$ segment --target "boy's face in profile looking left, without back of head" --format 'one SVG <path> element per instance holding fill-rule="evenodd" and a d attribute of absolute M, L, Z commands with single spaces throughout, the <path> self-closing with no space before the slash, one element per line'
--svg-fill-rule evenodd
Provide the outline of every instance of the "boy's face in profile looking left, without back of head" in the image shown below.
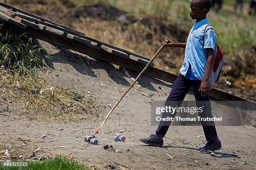
<path fill-rule="evenodd" d="M 202 7 L 200 7 L 200 4 L 196 1 L 196 0 L 192 0 L 190 3 L 190 17 L 193 20 L 199 20 L 202 18 L 205 18 L 206 14 L 207 14 L 207 10 L 206 9 L 202 9 Z"/>

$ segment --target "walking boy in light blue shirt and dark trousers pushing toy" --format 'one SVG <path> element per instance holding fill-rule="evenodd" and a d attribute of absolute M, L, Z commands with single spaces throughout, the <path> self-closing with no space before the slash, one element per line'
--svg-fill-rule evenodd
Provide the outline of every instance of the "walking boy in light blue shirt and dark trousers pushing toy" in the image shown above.
<path fill-rule="evenodd" d="M 205 34 L 206 27 L 210 25 L 206 15 L 211 6 L 210 0 L 192 0 L 189 13 L 190 17 L 196 22 L 189 32 L 187 43 L 173 42 L 168 38 L 166 38 L 168 43 L 166 41 L 162 42 L 167 47 L 185 48 L 184 62 L 179 70 L 180 74 L 174 82 L 166 103 L 176 101 L 175 106 L 179 107 L 190 87 L 193 87 L 197 107 L 202 104 L 199 101 L 204 101 L 204 111 L 198 112 L 200 117 L 212 117 L 210 98 L 207 93 L 209 75 L 214 62 L 214 52 L 217 50 L 215 49 L 216 35 L 212 29 L 207 30 Z M 172 115 L 164 112 L 162 118 L 175 117 L 175 115 L 176 113 Z M 167 133 L 170 124 L 171 121 L 160 121 L 156 134 L 139 140 L 148 145 L 163 146 L 163 137 Z M 217 136 L 214 122 L 209 125 L 209 123 L 201 121 L 201 124 L 208 142 L 200 149 L 219 150 L 221 143 Z"/>

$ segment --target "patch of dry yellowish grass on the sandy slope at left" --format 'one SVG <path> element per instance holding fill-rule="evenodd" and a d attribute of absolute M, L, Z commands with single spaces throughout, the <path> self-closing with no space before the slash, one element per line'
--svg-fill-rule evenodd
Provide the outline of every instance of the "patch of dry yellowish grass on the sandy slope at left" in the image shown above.
<path fill-rule="evenodd" d="M 31 119 L 51 117 L 58 121 L 77 121 L 81 115 L 90 117 L 100 108 L 93 100 L 69 92 L 68 89 L 50 85 L 37 76 L 6 75 L 1 71 L 1 102 L 18 100 L 23 108 L 20 114 Z M 54 87 L 53 96 L 49 90 L 51 87 Z"/>

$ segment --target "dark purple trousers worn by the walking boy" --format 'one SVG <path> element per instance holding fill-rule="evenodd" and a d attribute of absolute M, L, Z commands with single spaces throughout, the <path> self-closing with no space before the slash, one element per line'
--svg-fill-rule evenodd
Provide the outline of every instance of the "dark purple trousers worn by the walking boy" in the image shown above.
<path fill-rule="evenodd" d="M 174 82 L 174 85 L 172 87 L 171 93 L 166 99 L 166 102 L 168 101 L 177 101 L 175 105 L 180 107 L 182 104 L 182 101 L 184 100 L 184 97 L 187 95 L 187 92 L 191 87 L 193 87 L 194 90 L 194 95 L 195 95 L 195 100 L 196 101 L 204 101 L 204 111 L 203 112 L 198 112 L 200 117 L 212 117 L 212 107 L 210 103 L 210 98 L 207 95 L 201 96 L 201 91 L 199 91 L 201 81 L 200 80 L 189 80 L 183 75 L 179 75 L 177 79 Z M 196 102 L 197 107 L 200 107 L 201 102 Z M 162 117 L 175 117 L 177 112 L 175 112 L 173 115 L 170 113 L 164 112 Z M 171 121 L 160 121 L 158 128 L 156 129 L 156 133 L 160 133 L 163 137 L 167 133 L 167 130 L 171 124 Z M 207 141 L 212 140 L 217 136 L 217 131 L 214 125 L 214 122 L 211 123 L 211 125 L 207 124 L 204 125 L 205 123 L 201 121 L 202 128 L 205 133 L 205 138 Z"/>

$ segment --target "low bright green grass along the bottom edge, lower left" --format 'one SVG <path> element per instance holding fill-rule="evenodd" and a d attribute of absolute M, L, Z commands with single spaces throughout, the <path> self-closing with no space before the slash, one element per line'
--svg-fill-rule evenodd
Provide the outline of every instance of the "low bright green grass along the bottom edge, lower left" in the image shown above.
<path fill-rule="evenodd" d="M 26 167 L 8 167 L 0 170 L 97 170 L 97 168 L 88 167 L 67 158 L 56 157 L 44 162 L 28 162 Z"/>

